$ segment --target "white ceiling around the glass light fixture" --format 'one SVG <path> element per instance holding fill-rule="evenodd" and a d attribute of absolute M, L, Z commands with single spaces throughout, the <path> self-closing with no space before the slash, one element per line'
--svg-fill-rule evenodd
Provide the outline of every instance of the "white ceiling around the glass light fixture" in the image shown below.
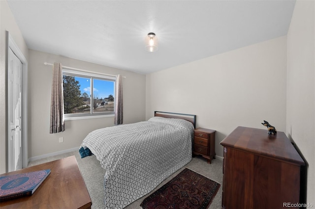
<path fill-rule="evenodd" d="M 30 49 L 142 74 L 286 35 L 295 5 L 295 0 L 7 1 Z M 149 32 L 158 37 L 157 52 L 144 49 Z"/>

